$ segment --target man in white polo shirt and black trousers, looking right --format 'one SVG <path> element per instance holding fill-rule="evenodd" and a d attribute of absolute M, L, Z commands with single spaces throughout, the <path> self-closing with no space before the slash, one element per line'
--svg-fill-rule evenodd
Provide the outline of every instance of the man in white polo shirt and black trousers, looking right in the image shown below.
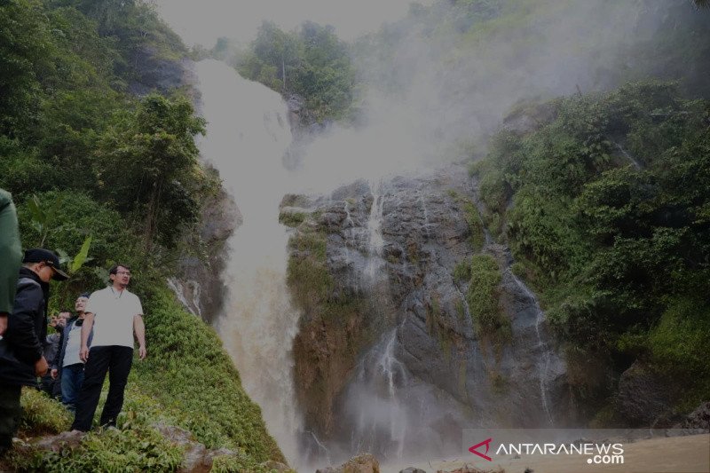
<path fill-rule="evenodd" d="M 126 287 L 130 269 L 116 264 L 109 270 L 111 285 L 91 294 L 84 308 L 82 348 L 79 357 L 86 362 L 82 390 L 76 403 L 73 430 L 91 429 L 101 387 L 108 373 L 108 396 L 101 413 L 102 426 L 115 427 L 116 417 L 123 406 L 130 365 L 133 362 L 133 334 L 138 338 L 138 355 L 146 358 L 146 326 L 143 307 L 138 296 Z M 93 328 L 91 351 L 87 346 Z"/>

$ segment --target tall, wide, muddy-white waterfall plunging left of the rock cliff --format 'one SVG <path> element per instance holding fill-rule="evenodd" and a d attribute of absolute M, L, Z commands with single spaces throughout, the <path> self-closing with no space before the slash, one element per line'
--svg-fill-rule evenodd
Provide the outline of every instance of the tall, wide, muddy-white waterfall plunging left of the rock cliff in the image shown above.
<path fill-rule="evenodd" d="M 288 184 L 283 158 L 291 144 L 280 95 L 242 79 L 224 63 L 198 63 L 207 137 L 202 156 L 233 195 L 243 224 L 227 242 L 229 293 L 217 332 L 241 374 L 244 389 L 262 408 L 264 421 L 291 464 L 298 464 L 291 347 L 298 313 L 286 284 L 286 228 L 279 203 Z M 225 257 L 227 257 L 225 255 Z"/>

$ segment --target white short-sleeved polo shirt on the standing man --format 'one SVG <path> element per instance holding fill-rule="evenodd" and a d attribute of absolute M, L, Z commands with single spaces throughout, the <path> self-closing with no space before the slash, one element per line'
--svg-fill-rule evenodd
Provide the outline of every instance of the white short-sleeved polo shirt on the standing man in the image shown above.
<path fill-rule="evenodd" d="M 133 348 L 133 318 L 143 315 L 138 296 L 128 289 L 101 289 L 89 297 L 85 312 L 94 314 L 91 346 L 119 345 Z"/>

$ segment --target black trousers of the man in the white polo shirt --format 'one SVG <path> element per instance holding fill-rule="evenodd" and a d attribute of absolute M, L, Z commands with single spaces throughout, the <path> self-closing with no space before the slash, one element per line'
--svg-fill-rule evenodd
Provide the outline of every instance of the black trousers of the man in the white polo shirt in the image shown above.
<path fill-rule="evenodd" d="M 116 417 L 123 406 L 123 390 L 126 389 L 130 366 L 133 363 L 133 349 L 110 345 L 91 347 L 89 359 L 83 372 L 82 390 L 76 402 L 73 430 L 91 430 L 96 407 L 99 406 L 101 387 L 108 373 L 108 396 L 101 413 L 100 425 L 115 426 Z"/>

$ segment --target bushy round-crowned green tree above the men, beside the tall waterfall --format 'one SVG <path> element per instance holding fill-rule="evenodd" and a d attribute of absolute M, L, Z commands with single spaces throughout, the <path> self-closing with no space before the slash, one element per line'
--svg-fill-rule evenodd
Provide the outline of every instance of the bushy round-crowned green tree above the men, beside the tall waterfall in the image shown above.
<path fill-rule="evenodd" d="M 104 192 L 117 209 L 142 222 L 146 250 L 154 242 L 172 247 L 184 225 L 198 217 L 189 192 L 201 179 L 197 133 L 204 133 L 204 120 L 193 116 L 187 99 L 152 94 L 101 139 Z"/>

